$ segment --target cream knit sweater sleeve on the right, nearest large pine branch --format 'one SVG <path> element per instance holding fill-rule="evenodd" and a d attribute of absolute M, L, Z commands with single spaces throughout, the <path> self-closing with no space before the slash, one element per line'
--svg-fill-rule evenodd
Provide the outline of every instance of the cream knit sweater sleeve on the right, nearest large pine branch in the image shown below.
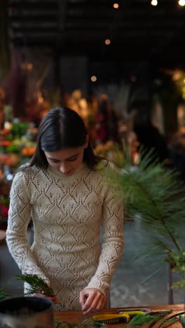
<path fill-rule="evenodd" d="M 111 278 L 123 252 L 123 198 L 113 189 L 107 190 L 103 205 L 102 252 L 95 275 L 88 288 L 100 289 L 107 294 Z"/>

